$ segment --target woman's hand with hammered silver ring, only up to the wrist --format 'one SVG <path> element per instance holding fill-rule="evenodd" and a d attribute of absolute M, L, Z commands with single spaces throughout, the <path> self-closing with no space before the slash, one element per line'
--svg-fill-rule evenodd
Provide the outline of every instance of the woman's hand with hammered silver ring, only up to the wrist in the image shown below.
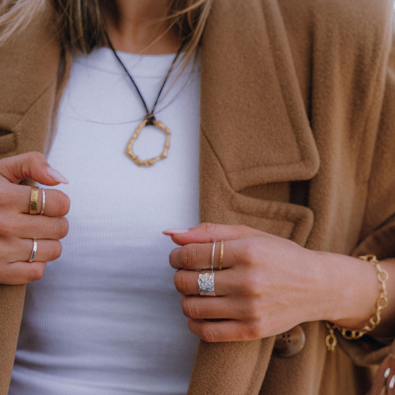
<path fill-rule="evenodd" d="M 330 276 L 319 254 L 296 243 L 243 225 L 200 224 L 184 233 L 167 229 L 181 245 L 170 264 L 182 293 L 190 330 L 207 342 L 253 340 L 283 333 L 301 322 L 328 319 L 333 304 Z M 215 271 L 216 297 L 200 296 L 199 271 L 214 269 L 224 240 L 223 269 Z M 349 258 L 349 257 L 348 257 Z M 355 259 L 355 258 L 351 258 Z M 206 319 L 225 319 L 207 321 Z"/>

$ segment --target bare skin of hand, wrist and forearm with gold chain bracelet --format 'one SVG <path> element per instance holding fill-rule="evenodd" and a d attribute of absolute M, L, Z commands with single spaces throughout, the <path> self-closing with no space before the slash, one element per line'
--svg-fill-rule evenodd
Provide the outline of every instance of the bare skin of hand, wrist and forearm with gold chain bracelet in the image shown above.
<path fill-rule="evenodd" d="M 169 260 L 177 269 L 174 283 L 182 294 L 182 311 L 190 318 L 190 330 L 207 342 L 260 339 L 316 320 L 361 329 L 376 311 L 381 290 L 377 271 L 358 258 L 308 250 L 243 225 L 200 224 L 185 233 L 164 233 L 181 245 Z M 221 239 L 223 269 L 216 271 L 214 282 L 218 296 L 202 297 L 196 269 L 209 269 L 212 243 Z M 217 267 L 219 254 L 217 245 Z M 390 279 L 395 276 L 393 263 L 381 262 Z M 371 332 L 375 336 L 393 333 L 394 282 L 387 288 L 389 307 Z"/>

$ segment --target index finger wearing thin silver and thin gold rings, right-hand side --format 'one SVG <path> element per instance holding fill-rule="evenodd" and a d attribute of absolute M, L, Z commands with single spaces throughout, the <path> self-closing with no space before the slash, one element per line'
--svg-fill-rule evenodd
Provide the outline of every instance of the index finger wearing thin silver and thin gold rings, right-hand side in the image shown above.
<path fill-rule="evenodd" d="M 214 269 L 219 267 L 221 243 L 216 243 L 213 258 Z M 242 248 L 243 243 L 238 240 L 229 240 L 224 242 L 224 254 L 222 258 L 222 267 L 229 268 L 239 262 L 238 250 Z M 213 243 L 210 244 L 187 244 L 175 248 L 169 255 L 169 262 L 174 269 L 210 269 L 211 254 L 213 253 Z"/>

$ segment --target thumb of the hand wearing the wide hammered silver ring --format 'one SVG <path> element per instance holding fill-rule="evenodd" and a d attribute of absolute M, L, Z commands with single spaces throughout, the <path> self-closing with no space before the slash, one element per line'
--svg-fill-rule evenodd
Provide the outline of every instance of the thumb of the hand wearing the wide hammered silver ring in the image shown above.
<path fill-rule="evenodd" d="M 235 240 L 244 239 L 246 237 L 255 237 L 264 235 L 260 230 L 250 228 L 245 225 L 219 225 L 203 223 L 190 228 L 187 231 L 182 229 L 183 233 L 178 229 L 166 229 L 162 233 L 171 236 L 171 239 L 179 244 L 191 243 L 213 243 L 214 240 Z"/>

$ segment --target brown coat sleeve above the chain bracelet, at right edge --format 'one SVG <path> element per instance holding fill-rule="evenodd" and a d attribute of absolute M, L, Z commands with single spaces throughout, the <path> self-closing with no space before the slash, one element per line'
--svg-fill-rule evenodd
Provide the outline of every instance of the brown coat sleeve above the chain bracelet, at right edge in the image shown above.
<path fill-rule="evenodd" d="M 395 264 L 395 40 L 386 70 L 386 87 L 377 133 L 363 231 L 353 256 L 374 254 L 378 260 L 394 259 Z M 389 278 L 388 281 L 395 281 Z M 395 317 L 394 317 L 395 320 Z M 380 363 L 395 353 L 395 333 L 387 339 L 369 335 L 359 340 L 337 336 L 340 346 L 355 364 Z"/>

